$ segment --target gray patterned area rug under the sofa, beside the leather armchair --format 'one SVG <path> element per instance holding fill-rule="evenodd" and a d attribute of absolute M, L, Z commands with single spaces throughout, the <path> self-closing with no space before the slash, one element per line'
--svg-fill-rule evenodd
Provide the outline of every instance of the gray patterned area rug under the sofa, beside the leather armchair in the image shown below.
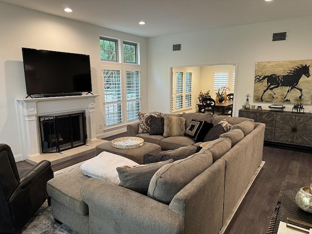
<path fill-rule="evenodd" d="M 79 162 L 70 167 L 66 167 L 54 173 L 54 177 L 63 175 L 80 167 L 83 162 Z M 45 201 L 39 210 L 23 227 L 23 234 L 78 234 L 65 224 L 59 225 L 54 221 L 51 206 Z"/>

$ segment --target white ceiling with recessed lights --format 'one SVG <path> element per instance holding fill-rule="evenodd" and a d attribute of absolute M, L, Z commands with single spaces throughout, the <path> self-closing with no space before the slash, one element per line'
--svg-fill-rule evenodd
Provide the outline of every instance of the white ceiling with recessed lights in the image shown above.
<path fill-rule="evenodd" d="M 312 0 L 0 1 L 147 38 L 312 16 Z"/>

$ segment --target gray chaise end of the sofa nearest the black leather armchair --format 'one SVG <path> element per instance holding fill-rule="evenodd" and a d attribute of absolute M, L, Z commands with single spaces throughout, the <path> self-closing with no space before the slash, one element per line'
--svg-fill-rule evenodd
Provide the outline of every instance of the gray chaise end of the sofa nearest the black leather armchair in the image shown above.
<path fill-rule="evenodd" d="M 89 233 L 89 209 L 80 195 L 82 185 L 89 178 L 78 167 L 47 182 L 55 221 L 66 224 L 80 234 Z"/>

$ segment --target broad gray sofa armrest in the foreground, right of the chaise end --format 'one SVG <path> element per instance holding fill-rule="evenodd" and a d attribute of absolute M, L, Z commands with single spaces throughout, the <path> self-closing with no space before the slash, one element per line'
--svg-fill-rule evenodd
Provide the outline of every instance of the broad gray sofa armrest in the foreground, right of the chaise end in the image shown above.
<path fill-rule="evenodd" d="M 89 233 L 182 234 L 184 218 L 168 205 L 116 184 L 91 178 L 81 188 L 89 206 Z"/>

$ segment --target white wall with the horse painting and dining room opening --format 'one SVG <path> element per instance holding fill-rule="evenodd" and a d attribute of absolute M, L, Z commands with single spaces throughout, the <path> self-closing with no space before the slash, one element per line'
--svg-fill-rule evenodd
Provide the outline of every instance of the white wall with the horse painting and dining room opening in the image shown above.
<path fill-rule="evenodd" d="M 253 104 L 255 62 L 312 59 L 311 22 L 312 17 L 303 17 L 150 38 L 149 111 L 171 110 L 170 67 L 237 63 L 234 116 L 238 116 L 247 93 Z M 287 41 L 272 42 L 272 33 L 281 31 L 288 31 Z M 172 52 L 176 43 L 182 43 L 181 52 Z M 263 109 L 270 105 L 254 104 Z M 285 110 L 291 111 L 292 106 L 287 104 Z M 312 110 L 311 105 L 304 107 L 306 112 Z"/>

